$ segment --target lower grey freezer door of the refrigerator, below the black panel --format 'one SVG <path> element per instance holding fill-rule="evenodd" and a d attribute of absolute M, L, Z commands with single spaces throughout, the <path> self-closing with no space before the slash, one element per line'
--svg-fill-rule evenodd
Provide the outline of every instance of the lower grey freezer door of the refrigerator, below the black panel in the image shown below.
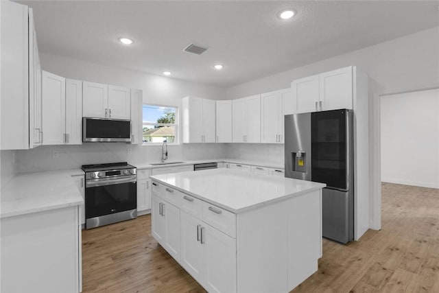
<path fill-rule="evenodd" d="M 353 192 L 324 188 L 322 192 L 323 237 L 347 243 L 353 240 Z"/>

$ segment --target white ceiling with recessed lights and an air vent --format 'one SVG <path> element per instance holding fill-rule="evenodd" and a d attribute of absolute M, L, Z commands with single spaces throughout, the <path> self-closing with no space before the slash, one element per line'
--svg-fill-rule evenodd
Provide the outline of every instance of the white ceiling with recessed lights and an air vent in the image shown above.
<path fill-rule="evenodd" d="M 44 53 L 225 88 L 439 25 L 438 1 L 19 2 Z M 210 49 L 182 51 L 192 42 Z"/>

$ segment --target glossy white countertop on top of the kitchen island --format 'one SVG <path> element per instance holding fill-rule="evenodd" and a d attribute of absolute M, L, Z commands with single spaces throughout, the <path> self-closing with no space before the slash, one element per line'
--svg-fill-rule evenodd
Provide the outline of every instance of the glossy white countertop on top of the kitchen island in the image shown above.
<path fill-rule="evenodd" d="M 239 169 L 207 169 L 161 174 L 151 178 L 233 213 L 248 211 L 326 186 L 322 183 L 254 174 Z"/>

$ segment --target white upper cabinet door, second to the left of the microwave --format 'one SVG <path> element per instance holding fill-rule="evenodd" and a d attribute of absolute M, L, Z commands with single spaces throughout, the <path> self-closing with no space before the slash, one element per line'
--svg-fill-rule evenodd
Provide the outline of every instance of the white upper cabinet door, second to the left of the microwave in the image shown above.
<path fill-rule="evenodd" d="M 66 129 L 66 79 L 43 71 L 43 145 L 62 145 Z"/>

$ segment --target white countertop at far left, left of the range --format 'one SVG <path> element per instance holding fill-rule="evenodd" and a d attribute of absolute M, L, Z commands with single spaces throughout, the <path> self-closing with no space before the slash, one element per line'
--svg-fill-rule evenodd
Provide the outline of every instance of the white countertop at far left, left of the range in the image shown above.
<path fill-rule="evenodd" d="M 17 174 L 1 187 L 0 218 L 84 204 L 71 176 L 82 169 Z"/>

